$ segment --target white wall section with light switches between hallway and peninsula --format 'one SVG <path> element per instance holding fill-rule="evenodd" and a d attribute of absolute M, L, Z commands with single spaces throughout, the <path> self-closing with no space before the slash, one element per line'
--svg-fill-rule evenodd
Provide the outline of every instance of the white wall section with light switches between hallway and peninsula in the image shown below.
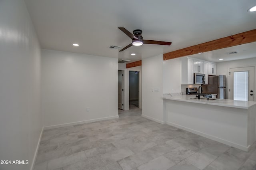
<path fill-rule="evenodd" d="M 159 123 L 163 117 L 163 55 L 142 59 L 142 116 Z M 158 92 L 152 92 L 158 89 Z"/>

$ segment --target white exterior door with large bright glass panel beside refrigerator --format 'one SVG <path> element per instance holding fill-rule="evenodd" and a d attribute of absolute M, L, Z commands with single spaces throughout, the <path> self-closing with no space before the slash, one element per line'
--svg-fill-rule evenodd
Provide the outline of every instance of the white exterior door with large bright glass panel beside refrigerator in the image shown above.
<path fill-rule="evenodd" d="M 229 99 L 254 101 L 254 66 L 230 69 Z"/>

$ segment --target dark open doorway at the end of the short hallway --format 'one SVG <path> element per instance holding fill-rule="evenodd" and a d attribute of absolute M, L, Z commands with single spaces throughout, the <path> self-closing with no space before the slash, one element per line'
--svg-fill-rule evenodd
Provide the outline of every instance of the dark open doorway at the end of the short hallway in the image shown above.
<path fill-rule="evenodd" d="M 139 108 L 139 71 L 129 71 L 129 109 Z"/>

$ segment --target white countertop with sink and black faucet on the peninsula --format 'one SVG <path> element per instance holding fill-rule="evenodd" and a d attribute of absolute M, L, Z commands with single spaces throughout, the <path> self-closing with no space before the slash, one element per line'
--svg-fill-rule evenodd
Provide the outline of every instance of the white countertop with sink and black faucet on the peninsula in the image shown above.
<path fill-rule="evenodd" d="M 240 109 L 249 109 L 251 106 L 256 105 L 254 101 L 236 101 L 230 99 L 216 99 L 216 100 L 207 100 L 207 99 L 191 99 L 195 95 L 182 95 L 182 96 L 172 96 L 172 97 L 162 97 L 162 99 L 175 100 L 175 101 L 185 101 L 191 103 L 200 103 L 206 105 L 216 105 L 224 107 L 234 107 Z"/>

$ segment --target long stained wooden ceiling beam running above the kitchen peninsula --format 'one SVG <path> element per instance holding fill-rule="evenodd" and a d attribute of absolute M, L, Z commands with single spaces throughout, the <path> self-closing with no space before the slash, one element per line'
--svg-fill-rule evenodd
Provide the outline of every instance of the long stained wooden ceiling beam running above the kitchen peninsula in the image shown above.
<path fill-rule="evenodd" d="M 178 57 L 183 57 L 187 55 L 193 55 L 200 52 L 207 52 L 216 49 L 232 47 L 235 45 L 240 45 L 244 43 L 256 42 L 256 29 L 250 30 L 247 32 L 242 32 L 239 34 L 235 34 L 233 36 L 228 36 L 224 38 L 220 38 L 218 40 L 213 40 L 206 43 L 201 43 L 198 45 L 194 45 L 191 47 L 186 47 L 183 49 L 178 49 L 176 51 L 172 51 L 164 54 L 164 60 L 174 59 Z"/>

